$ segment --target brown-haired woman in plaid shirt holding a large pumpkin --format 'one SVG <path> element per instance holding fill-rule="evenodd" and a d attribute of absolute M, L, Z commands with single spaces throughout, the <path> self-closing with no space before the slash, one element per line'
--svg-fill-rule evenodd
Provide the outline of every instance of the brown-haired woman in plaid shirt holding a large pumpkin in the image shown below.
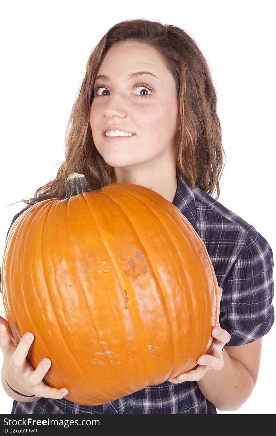
<path fill-rule="evenodd" d="M 215 414 L 216 408 L 239 409 L 256 384 L 262 337 L 274 322 L 273 253 L 252 225 L 217 201 L 224 150 L 216 92 L 203 54 L 178 27 L 147 20 L 116 24 L 89 57 L 69 123 L 65 162 L 55 180 L 23 200 L 27 208 L 64 198 L 64 182 L 72 172 L 85 174 L 92 189 L 133 183 L 161 194 L 186 216 L 208 250 L 222 289 L 220 326 L 213 328 L 211 347 L 191 371 L 86 406 L 62 398 L 66 387 L 45 383 L 51 365 L 47 356 L 45 368 L 43 361 L 35 370 L 26 361 L 34 335 L 29 342 L 24 336 L 17 346 L 1 317 L 2 383 L 14 398 L 11 413 Z M 211 197 L 215 189 L 216 199 Z"/>

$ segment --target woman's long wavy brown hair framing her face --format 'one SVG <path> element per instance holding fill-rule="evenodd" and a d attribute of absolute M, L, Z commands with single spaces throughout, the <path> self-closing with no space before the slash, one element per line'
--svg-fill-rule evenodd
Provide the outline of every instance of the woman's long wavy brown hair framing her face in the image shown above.
<path fill-rule="evenodd" d="M 181 28 L 133 19 L 112 26 L 90 54 L 66 128 L 65 161 L 55 179 L 39 187 L 33 198 L 22 199 L 24 203 L 32 205 L 49 198 L 65 198 L 65 180 L 70 173 L 85 174 L 92 189 L 116 183 L 114 167 L 106 164 L 93 143 L 89 111 L 95 78 L 105 53 L 122 41 L 147 44 L 161 55 L 174 77 L 182 125 L 176 172 L 182 174 L 190 187 L 198 186 L 209 195 L 216 189 L 216 199 L 219 198 L 225 152 L 216 112 L 217 96 L 207 61 L 195 41 Z"/>

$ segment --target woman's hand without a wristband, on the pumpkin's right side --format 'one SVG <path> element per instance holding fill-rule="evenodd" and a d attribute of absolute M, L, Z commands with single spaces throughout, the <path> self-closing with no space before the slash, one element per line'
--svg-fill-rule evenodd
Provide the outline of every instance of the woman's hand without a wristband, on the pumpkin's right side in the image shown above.
<path fill-rule="evenodd" d="M 218 287 L 219 302 L 221 302 L 222 289 Z M 202 354 L 197 360 L 197 366 L 191 371 L 184 372 L 177 375 L 177 377 L 170 378 L 168 381 L 171 383 L 181 383 L 182 381 L 198 381 L 206 374 L 209 369 L 221 371 L 224 367 L 224 360 L 222 358 L 222 350 L 230 341 L 231 335 L 228 331 L 223 330 L 218 321 L 218 325 L 213 327 L 211 335 L 214 338 L 207 354 Z"/>

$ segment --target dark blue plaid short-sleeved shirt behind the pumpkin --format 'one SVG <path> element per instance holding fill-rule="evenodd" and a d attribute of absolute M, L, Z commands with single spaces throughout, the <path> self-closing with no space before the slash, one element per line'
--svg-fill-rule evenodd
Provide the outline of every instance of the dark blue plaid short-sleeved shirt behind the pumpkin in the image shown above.
<path fill-rule="evenodd" d="M 204 242 L 223 290 L 219 322 L 231 334 L 227 345 L 235 347 L 256 341 L 274 322 L 272 249 L 252 225 L 199 187 L 188 187 L 178 171 L 177 182 L 173 204 Z M 29 207 L 17 213 L 11 225 Z M 30 403 L 14 400 L 11 413 L 215 414 L 217 410 L 201 393 L 196 381 L 178 384 L 165 381 L 97 406 L 80 405 L 65 398 L 41 398 Z"/>

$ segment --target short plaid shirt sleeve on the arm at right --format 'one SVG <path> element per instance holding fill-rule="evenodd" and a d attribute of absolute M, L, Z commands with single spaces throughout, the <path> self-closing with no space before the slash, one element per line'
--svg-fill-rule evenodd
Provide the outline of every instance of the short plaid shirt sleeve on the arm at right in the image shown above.
<path fill-rule="evenodd" d="M 231 334 L 227 346 L 256 341 L 273 326 L 273 266 L 272 249 L 255 230 L 221 286 L 220 326 Z"/>

